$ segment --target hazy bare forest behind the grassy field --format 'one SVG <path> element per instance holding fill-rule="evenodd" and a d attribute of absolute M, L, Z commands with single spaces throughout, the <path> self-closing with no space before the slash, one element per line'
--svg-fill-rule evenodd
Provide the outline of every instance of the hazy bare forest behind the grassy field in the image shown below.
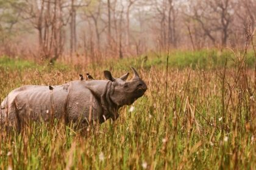
<path fill-rule="evenodd" d="M 255 0 L 0 0 L 0 55 L 96 61 L 243 47 Z"/>

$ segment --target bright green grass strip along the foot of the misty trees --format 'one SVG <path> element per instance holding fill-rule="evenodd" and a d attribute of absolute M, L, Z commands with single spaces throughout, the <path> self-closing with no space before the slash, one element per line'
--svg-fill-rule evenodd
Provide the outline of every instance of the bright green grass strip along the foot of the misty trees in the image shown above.
<path fill-rule="evenodd" d="M 238 57 L 243 58 L 243 52 L 236 52 Z M 147 59 L 145 59 L 147 56 Z M 148 53 L 146 55 L 124 58 L 122 60 L 116 59 L 108 59 L 103 60 L 101 63 L 91 63 L 84 66 L 83 64 L 76 64 L 74 66 L 70 66 L 70 63 L 35 63 L 33 61 L 22 60 L 20 58 L 13 59 L 7 56 L 0 57 L 0 69 L 8 69 L 8 70 L 26 70 L 26 69 L 37 69 L 42 72 L 51 72 L 52 69 L 63 71 L 69 71 L 71 69 L 79 72 L 84 69 L 98 69 L 99 67 L 103 69 L 109 69 L 109 67 L 113 67 L 115 70 L 129 70 L 130 66 L 133 67 L 141 67 L 143 69 L 150 69 L 152 66 L 154 67 L 162 67 L 166 65 L 166 56 L 167 53 L 155 54 Z M 219 69 L 224 66 L 227 60 L 227 67 L 232 68 L 236 66 L 235 61 L 236 56 L 229 49 L 225 50 L 216 50 L 216 49 L 204 49 L 198 51 L 190 51 L 190 50 L 173 50 L 169 52 L 169 66 L 177 69 L 186 69 L 191 68 L 195 69 Z M 250 50 L 246 55 L 246 66 L 253 69 L 255 63 L 254 52 Z"/>

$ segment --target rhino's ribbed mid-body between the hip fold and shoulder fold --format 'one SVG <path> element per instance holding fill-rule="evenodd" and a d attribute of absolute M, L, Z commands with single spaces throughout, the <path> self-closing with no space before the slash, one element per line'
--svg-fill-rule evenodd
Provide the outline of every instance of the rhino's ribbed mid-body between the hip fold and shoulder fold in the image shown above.
<path fill-rule="evenodd" d="M 30 117 L 32 120 L 48 121 L 50 118 L 63 116 L 65 100 L 68 97 L 68 90 L 63 86 L 41 86 L 21 92 L 16 97 L 20 118 Z"/>

